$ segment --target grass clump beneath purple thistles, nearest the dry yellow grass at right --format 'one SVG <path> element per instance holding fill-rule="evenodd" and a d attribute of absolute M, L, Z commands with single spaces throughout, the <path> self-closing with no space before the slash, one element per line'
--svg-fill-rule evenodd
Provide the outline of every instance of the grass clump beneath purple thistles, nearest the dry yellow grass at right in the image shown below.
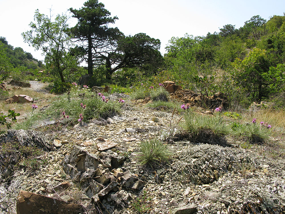
<path fill-rule="evenodd" d="M 250 144 L 263 144 L 270 137 L 271 130 L 258 124 L 242 124 L 234 129 L 234 134 L 243 136 Z"/>

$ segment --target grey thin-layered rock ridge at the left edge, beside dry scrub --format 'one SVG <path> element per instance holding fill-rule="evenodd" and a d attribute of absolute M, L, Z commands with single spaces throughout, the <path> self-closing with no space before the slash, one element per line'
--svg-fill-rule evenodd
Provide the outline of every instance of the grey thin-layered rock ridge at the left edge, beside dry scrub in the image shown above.
<path fill-rule="evenodd" d="M 15 141 L 23 146 L 36 146 L 45 151 L 51 151 L 54 148 L 43 133 L 35 130 L 9 129 L 7 134 L 3 134 L 0 138 L 0 142 Z"/>

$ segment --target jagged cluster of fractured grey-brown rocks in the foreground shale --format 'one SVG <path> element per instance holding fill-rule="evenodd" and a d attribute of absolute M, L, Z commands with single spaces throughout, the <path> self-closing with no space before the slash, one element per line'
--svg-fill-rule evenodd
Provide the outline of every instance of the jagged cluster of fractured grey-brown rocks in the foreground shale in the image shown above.
<path fill-rule="evenodd" d="M 117 205 L 126 207 L 133 198 L 127 191 L 140 191 L 145 181 L 130 171 L 123 172 L 118 168 L 123 162 L 124 157 L 111 150 L 100 154 L 98 152 L 97 155 L 86 152 L 79 146 L 73 146 L 72 152 L 65 156 L 62 165 L 66 174 L 70 175 L 73 182 L 80 184 L 81 189 L 94 203 L 100 204 L 108 198 Z"/>

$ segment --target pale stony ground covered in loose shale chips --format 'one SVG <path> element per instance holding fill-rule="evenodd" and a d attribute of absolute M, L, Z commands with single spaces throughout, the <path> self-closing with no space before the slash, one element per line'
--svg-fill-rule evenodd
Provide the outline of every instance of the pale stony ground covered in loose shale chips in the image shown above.
<path fill-rule="evenodd" d="M 158 118 L 154 122 L 153 118 Z M 181 115 L 147 109 L 140 104 L 127 103 L 122 114 L 109 119 L 108 124 L 96 121 L 78 128 L 65 127 L 61 131 L 41 129 L 48 139 L 63 144 L 39 158 L 47 163 L 38 171 L 16 171 L 11 182 L 0 184 L 0 213 L 16 213 L 19 190 L 82 203 L 86 213 L 284 213 L 285 164 L 281 158 L 260 156 L 254 149 L 242 149 L 227 137 L 231 145 L 193 144 L 189 140 L 168 143 L 173 156 L 169 163 L 153 167 L 138 163 L 139 144 L 161 136 L 170 121 L 175 124 Z M 144 187 L 128 191 L 132 200 L 126 207 L 118 206 L 110 194 L 100 200 L 101 205 L 90 206 L 90 198 L 83 194 L 62 167 L 66 155 L 74 145 L 92 154 L 99 154 L 96 146 L 84 146 L 88 140 L 104 138 L 117 146 L 104 152 L 124 157 L 122 171 L 130 171 L 145 181 Z M 67 190 L 55 189 L 63 181 L 70 181 Z M 192 208 L 196 208 L 191 212 Z M 105 209 L 106 208 L 106 209 Z M 184 212 L 183 212 L 184 211 Z"/>

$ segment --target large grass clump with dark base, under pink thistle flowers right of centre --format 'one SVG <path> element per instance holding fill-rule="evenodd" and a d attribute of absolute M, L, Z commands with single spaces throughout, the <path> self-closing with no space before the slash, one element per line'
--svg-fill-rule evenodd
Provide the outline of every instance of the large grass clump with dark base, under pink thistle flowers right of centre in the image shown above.
<path fill-rule="evenodd" d="M 184 128 L 193 142 L 225 145 L 229 128 L 221 116 L 185 114 Z"/>

